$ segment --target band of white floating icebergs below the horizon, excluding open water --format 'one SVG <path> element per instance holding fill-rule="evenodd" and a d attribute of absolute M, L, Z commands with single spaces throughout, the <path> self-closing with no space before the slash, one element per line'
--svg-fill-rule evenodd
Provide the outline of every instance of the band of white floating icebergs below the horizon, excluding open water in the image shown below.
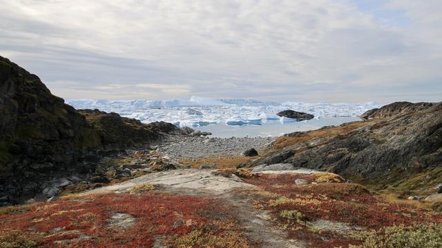
<path fill-rule="evenodd" d="M 325 116 L 356 117 L 367 110 L 380 107 L 378 103 L 284 103 L 243 99 L 209 99 L 192 96 L 190 99 L 167 100 L 109 100 L 109 99 L 66 99 L 66 103 L 77 109 L 99 109 L 116 112 L 122 116 L 136 118 L 143 123 L 166 121 L 180 127 L 198 127 L 213 123 L 227 125 L 261 125 L 267 121 L 291 123 L 296 119 L 281 118 L 276 113 L 282 110 L 296 110 L 314 114 L 315 118 Z"/>

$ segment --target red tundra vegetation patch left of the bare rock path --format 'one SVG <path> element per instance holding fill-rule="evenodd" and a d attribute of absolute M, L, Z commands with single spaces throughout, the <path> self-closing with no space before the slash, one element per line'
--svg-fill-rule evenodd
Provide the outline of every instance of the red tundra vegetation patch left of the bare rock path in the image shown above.
<path fill-rule="evenodd" d="M 229 208 L 208 197 L 97 194 L 1 209 L 0 247 L 249 247 Z M 128 229 L 108 225 L 129 214 Z M 75 242 L 73 242 L 73 240 Z"/>

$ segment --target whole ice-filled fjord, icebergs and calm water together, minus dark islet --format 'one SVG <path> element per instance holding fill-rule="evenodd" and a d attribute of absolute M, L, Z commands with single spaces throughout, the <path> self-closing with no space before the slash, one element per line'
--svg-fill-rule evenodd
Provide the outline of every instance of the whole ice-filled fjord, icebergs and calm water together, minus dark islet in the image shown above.
<path fill-rule="evenodd" d="M 377 103 L 303 103 L 244 99 L 90 100 L 68 99 L 76 109 L 99 109 L 136 118 L 143 123 L 166 121 L 178 127 L 212 132 L 213 136 L 278 136 L 288 132 L 314 130 L 358 120 L 363 112 L 380 107 Z M 314 114 L 309 121 L 282 118 L 276 113 L 295 110 Z"/>

